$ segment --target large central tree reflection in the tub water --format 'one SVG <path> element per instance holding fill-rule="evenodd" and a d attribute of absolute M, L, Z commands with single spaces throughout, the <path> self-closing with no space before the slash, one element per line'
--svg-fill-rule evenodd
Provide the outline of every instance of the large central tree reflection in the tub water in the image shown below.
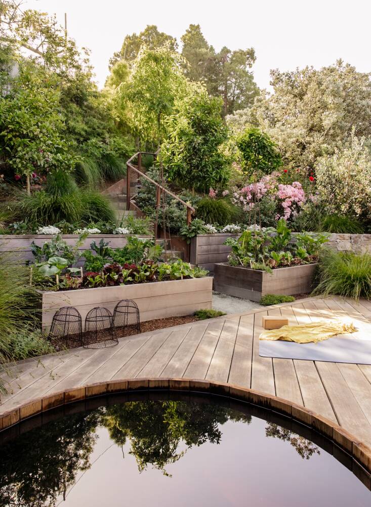
<path fill-rule="evenodd" d="M 251 421 L 249 416 L 213 404 L 154 401 L 109 407 L 102 423 L 117 444 L 122 446 L 130 439 L 130 453 L 140 471 L 152 465 L 168 475 L 165 466 L 184 454 L 178 450 L 181 442 L 187 448 L 207 441 L 218 444 L 218 425 L 231 418 Z"/>

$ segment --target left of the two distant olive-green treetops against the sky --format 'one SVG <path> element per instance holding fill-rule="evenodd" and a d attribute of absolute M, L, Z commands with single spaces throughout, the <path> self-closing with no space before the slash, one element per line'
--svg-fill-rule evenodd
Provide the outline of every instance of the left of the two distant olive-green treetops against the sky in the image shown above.
<path fill-rule="evenodd" d="M 124 60 L 132 65 L 139 54 L 142 46 L 149 49 L 157 49 L 167 45 L 173 51 L 178 47 L 176 39 L 167 33 L 160 32 L 156 25 L 147 25 L 142 32 L 137 35 L 132 33 L 126 35 L 120 51 L 114 53 L 114 56 L 109 60 L 109 69 L 115 65 L 116 62 Z"/>

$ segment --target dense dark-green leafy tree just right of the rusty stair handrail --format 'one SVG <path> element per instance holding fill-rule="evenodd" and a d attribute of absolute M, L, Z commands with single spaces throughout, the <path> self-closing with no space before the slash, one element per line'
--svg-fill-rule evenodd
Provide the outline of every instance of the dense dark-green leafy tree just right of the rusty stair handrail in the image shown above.
<path fill-rule="evenodd" d="M 221 148 L 227 129 L 219 99 L 209 97 L 201 87 L 178 98 L 167 131 L 161 154 L 171 182 L 201 192 L 227 182 L 229 160 Z"/>

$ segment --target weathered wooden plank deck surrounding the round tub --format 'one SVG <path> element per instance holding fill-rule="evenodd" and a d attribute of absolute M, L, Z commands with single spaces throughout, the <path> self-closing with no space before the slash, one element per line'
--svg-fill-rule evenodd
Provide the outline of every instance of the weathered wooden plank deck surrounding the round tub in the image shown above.
<path fill-rule="evenodd" d="M 280 396 L 331 419 L 371 446 L 371 366 L 261 357 L 262 315 L 290 323 L 351 319 L 371 336 L 371 302 L 310 298 L 123 338 L 107 349 L 73 349 L 2 372 L 0 415 L 45 395 L 127 378 L 228 382 Z"/>

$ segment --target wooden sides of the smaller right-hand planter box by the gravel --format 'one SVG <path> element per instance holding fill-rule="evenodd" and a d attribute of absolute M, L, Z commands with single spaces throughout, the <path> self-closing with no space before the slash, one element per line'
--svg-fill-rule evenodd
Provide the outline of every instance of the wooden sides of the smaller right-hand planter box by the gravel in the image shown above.
<path fill-rule="evenodd" d="M 266 294 L 309 293 L 317 264 L 290 266 L 267 273 L 257 269 L 215 264 L 214 290 L 237 298 L 259 301 Z"/>

